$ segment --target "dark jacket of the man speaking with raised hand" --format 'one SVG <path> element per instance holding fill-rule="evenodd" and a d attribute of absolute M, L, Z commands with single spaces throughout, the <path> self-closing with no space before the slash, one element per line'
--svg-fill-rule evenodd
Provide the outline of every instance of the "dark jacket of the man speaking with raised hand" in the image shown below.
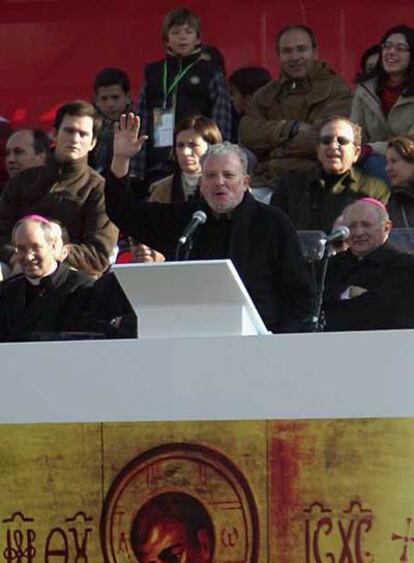
<path fill-rule="evenodd" d="M 190 259 L 230 258 L 262 319 L 272 332 L 305 330 L 312 316 L 313 290 L 296 232 L 277 209 L 246 193 L 230 216 L 215 215 L 205 202 L 144 203 L 109 174 L 106 208 L 125 233 L 168 257 L 197 209 L 207 214 L 194 235 Z"/>

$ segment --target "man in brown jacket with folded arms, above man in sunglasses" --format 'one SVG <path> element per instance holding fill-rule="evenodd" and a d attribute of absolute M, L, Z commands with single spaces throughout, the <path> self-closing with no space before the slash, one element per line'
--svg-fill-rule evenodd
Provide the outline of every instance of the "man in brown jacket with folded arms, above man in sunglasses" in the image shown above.
<path fill-rule="evenodd" d="M 280 76 L 258 90 L 240 123 L 240 142 L 258 157 L 255 186 L 274 186 L 285 170 L 315 163 L 315 132 L 331 115 L 349 116 L 351 88 L 318 61 L 313 31 L 284 27 L 276 39 Z"/>

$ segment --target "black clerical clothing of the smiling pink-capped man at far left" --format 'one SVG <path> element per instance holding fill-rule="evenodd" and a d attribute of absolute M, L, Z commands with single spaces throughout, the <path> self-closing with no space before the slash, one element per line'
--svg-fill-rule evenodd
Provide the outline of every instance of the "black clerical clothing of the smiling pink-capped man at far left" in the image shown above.
<path fill-rule="evenodd" d="M 93 278 L 65 263 L 40 286 L 23 274 L 0 284 L 0 341 L 51 339 L 52 333 L 82 329 L 82 313 Z"/>

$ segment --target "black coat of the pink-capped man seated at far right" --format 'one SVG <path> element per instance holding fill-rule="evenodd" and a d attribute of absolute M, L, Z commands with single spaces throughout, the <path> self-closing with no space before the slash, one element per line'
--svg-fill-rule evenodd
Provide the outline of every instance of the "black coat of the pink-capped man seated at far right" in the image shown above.
<path fill-rule="evenodd" d="M 349 286 L 368 291 L 341 299 Z M 350 250 L 334 256 L 324 309 L 328 331 L 414 328 L 414 256 L 389 242 L 362 259 Z"/>

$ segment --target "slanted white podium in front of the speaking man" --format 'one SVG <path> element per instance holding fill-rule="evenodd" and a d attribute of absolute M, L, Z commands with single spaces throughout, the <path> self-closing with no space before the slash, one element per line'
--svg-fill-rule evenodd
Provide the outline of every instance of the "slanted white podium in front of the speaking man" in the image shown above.
<path fill-rule="evenodd" d="M 113 268 L 138 316 L 139 338 L 268 334 L 230 260 Z"/>

